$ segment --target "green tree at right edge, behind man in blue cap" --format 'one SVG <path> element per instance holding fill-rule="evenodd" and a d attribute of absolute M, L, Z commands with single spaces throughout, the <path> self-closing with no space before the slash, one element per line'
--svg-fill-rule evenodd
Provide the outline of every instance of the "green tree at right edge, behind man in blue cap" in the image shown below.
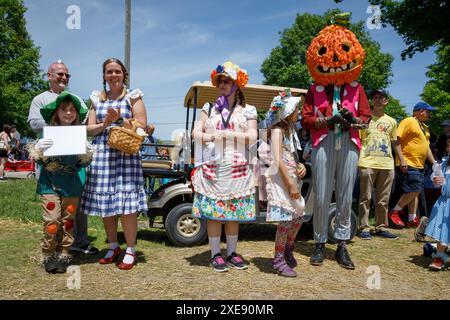
<path fill-rule="evenodd" d="M 426 73 L 430 80 L 425 84 L 422 99 L 436 107 L 430 121 L 431 130 L 440 134 L 440 123 L 450 119 L 450 45 L 439 44 L 436 62 L 428 66 Z"/>

